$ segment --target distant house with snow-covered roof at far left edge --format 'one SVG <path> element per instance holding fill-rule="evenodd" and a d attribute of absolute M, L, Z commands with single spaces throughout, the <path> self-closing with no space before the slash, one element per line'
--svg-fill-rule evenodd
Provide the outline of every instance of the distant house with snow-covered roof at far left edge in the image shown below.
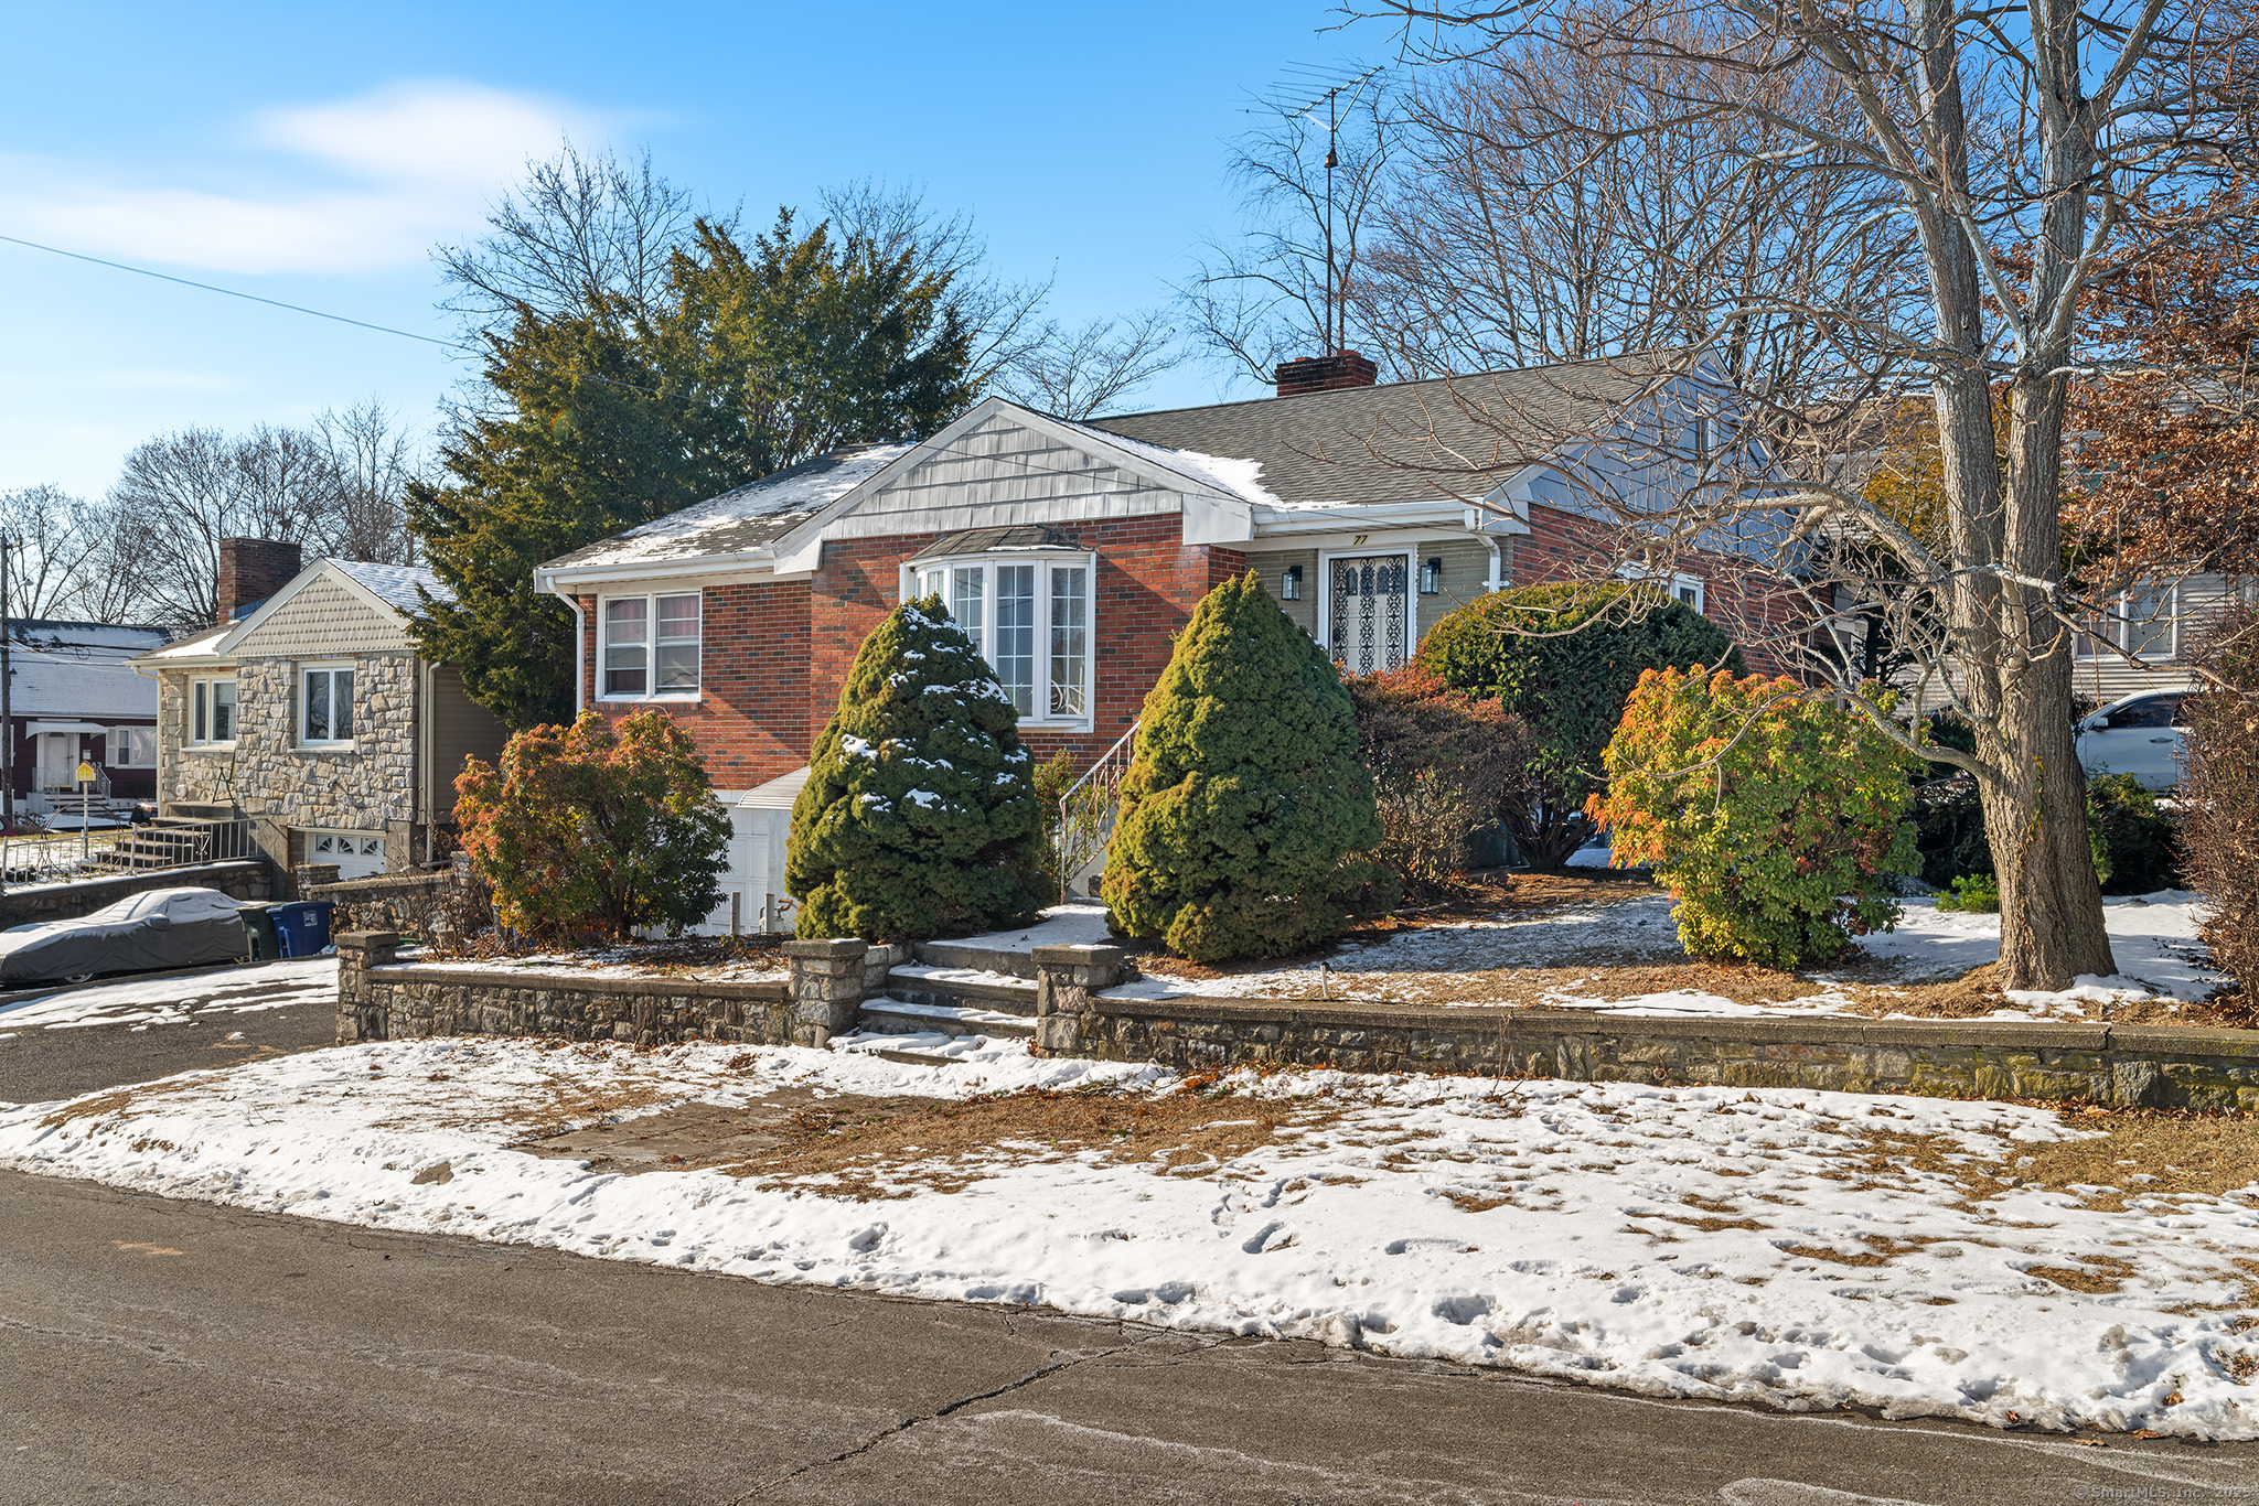
<path fill-rule="evenodd" d="M 156 686 L 131 659 L 160 648 L 165 630 L 11 616 L 7 637 L 16 811 L 75 808 L 81 763 L 95 768 L 97 808 L 151 799 Z"/>

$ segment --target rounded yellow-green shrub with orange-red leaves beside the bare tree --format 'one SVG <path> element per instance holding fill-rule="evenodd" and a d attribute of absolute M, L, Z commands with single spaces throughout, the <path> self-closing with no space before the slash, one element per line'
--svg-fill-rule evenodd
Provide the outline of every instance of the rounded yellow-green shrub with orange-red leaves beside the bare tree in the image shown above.
<path fill-rule="evenodd" d="M 1907 754 L 1787 677 L 1647 671 L 1606 770 L 1613 863 L 1656 872 L 1701 957 L 1830 962 L 1898 921 L 1893 876 L 1920 867 Z"/>

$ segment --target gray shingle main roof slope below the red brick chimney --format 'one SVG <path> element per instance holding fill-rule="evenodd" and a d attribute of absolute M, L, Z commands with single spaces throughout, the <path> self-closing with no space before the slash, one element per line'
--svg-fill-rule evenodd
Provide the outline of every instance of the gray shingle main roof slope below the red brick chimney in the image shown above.
<path fill-rule="evenodd" d="M 1261 461 L 1263 488 L 1283 501 L 1430 501 L 1491 490 L 1532 456 L 1608 422 L 1681 361 L 1681 352 L 1640 352 L 1084 422 L 1168 449 Z"/>

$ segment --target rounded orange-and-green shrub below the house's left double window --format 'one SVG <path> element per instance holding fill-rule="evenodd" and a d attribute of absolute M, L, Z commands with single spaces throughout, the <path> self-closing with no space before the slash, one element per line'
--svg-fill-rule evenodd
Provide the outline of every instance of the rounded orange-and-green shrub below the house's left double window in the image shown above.
<path fill-rule="evenodd" d="M 730 817 L 698 747 L 655 709 L 529 727 L 497 763 L 468 759 L 454 788 L 463 851 L 513 930 L 680 933 L 721 903 Z"/>

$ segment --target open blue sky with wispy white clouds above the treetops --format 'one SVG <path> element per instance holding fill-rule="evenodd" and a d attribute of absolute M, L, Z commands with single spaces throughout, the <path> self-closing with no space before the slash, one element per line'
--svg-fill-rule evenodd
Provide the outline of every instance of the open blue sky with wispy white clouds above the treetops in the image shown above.
<path fill-rule="evenodd" d="M 648 145 L 766 221 L 825 183 L 971 210 L 1053 314 L 1161 303 L 1233 226 L 1224 140 L 1288 63 L 1378 61 L 1328 0 L 1118 5 L 14 7 L 0 235 L 425 334 L 429 246 L 529 154 Z M 427 429 L 434 345 L 0 244 L 0 490 L 99 494 L 187 424 L 380 397 Z M 1220 395 L 1179 370 L 1141 404 Z"/>

